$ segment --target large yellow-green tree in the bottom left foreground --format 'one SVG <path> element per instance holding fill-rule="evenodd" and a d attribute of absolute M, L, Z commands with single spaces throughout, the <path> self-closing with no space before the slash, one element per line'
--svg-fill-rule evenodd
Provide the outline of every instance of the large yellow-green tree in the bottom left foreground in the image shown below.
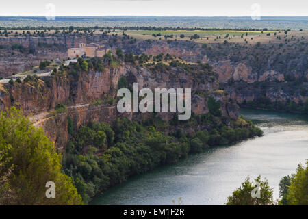
<path fill-rule="evenodd" d="M 0 112 L 0 152 L 12 169 L 8 184 L 16 196 L 8 205 L 81 205 L 71 179 L 61 172 L 62 156 L 42 129 L 34 127 L 20 110 Z M 55 198 L 47 198 L 46 183 L 55 183 Z"/>

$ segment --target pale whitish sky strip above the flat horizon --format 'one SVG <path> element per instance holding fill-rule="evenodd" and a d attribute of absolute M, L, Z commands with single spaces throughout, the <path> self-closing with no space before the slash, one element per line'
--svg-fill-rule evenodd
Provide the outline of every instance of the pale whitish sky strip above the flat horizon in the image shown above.
<path fill-rule="evenodd" d="M 48 3 L 55 16 L 308 16 L 307 0 L 1 0 L 0 16 L 46 16 Z"/>

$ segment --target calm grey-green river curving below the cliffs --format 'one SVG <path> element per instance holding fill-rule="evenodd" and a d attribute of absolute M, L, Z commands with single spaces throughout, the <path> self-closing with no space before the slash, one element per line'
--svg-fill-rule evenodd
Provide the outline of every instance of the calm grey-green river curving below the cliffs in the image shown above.
<path fill-rule="evenodd" d="M 279 181 L 308 159 L 308 116 L 241 109 L 264 131 L 230 146 L 219 146 L 132 177 L 94 198 L 91 205 L 172 205 L 181 197 L 184 205 L 223 205 L 246 176 L 266 177 L 274 198 Z"/>

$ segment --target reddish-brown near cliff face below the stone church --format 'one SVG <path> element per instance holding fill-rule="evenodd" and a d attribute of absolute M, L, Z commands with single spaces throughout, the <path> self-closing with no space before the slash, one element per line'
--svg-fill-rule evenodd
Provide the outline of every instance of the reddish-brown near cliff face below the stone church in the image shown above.
<path fill-rule="evenodd" d="M 31 117 L 34 125 L 44 129 L 58 148 L 63 148 L 68 140 L 68 118 L 73 120 L 75 130 L 90 121 L 111 122 L 118 116 L 137 120 L 146 118 L 146 114 L 140 113 L 120 114 L 114 103 L 105 101 L 116 97 L 120 77 L 127 79 L 128 86 L 138 82 L 140 88 L 151 90 L 192 88 L 194 113 L 209 112 L 207 98 L 214 96 L 222 106 L 224 117 L 238 117 L 237 105 L 227 101 L 226 94 L 218 90 L 218 75 L 214 72 L 202 72 L 196 78 L 180 67 L 166 70 L 124 63 L 118 68 L 106 66 L 103 72 L 89 70 L 78 75 L 41 77 L 38 81 L 27 83 L 1 83 L 0 110 L 11 106 L 20 107 L 25 115 Z M 60 103 L 66 105 L 65 109 L 55 110 L 55 106 Z M 170 113 L 160 113 L 158 116 L 166 120 L 172 118 Z"/>

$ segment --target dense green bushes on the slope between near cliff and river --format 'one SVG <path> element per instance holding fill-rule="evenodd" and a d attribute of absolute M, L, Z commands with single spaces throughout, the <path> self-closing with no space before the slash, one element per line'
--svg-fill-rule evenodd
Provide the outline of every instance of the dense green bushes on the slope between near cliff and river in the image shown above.
<path fill-rule="evenodd" d="M 196 128 L 205 126 L 209 130 Z M 209 146 L 261 134 L 250 122 L 239 119 L 227 127 L 211 114 L 193 115 L 188 121 L 175 118 L 169 123 L 155 117 L 144 123 L 127 118 L 118 118 L 111 125 L 90 123 L 68 142 L 64 172 L 74 179 L 84 203 L 88 203 L 99 192 L 132 175 L 174 164 Z"/>

